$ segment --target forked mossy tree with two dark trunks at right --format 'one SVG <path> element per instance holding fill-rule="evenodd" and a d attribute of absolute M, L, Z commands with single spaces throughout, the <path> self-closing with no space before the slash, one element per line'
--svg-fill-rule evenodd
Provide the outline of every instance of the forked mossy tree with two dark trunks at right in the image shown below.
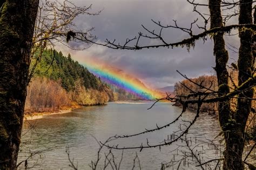
<path fill-rule="evenodd" d="M 223 26 L 220 2 L 220 0 L 209 1 L 211 28 Z M 240 3 L 239 24 L 251 24 L 252 0 L 241 0 Z M 217 35 L 213 36 L 219 96 L 229 92 L 228 72 L 226 69 L 228 53 L 225 50 L 223 35 L 224 32 L 218 32 Z M 238 80 L 239 85 L 241 85 L 252 76 L 252 30 L 239 30 L 239 37 Z M 223 169 L 244 169 L 242 152 L 244 151 L 245 127 L 251 110 L 250 98 L 253 97 L 253 90 L 247 90 L 239 94 L 238 97 L 246 99 L 238 99 L 237 112 L 235 113 L 231 113 L 229 99 L 219 102 L 219 122 L 225 138 Z"/>

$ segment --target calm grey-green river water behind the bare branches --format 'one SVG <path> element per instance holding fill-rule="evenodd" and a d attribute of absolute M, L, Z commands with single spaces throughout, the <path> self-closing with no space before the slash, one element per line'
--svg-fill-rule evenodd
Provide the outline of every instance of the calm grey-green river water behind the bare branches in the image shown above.
<path fill-rule="evenodd" d="M 38 152 L 38 154 L 28 159 L 28 167 L 32 167 L 32 169 L 72 169 L 69 167 L 70 162 L 66 154 L 66 147 L 69 147 L 70 158 L 74 160 L 73 162 L 78 166 L 78 169 L 91 169 L 89 164 L 91 164 L 91 161 L 97 160 L 99 148 L 93 137 L 104 142 L 107 138 L 116 134 L 138 133 L 144 131 L 145 128 L 150 130 L 156 128 L 156 124 L 162 126 L 170 123 L 181 113 L 181 108 L 172 106 L 170 103 L 158 103 L 147 110 L 151 105 L 152 102 L 109 103 L 105 106 L 83 107 L 70 113 L 47 115 L 42 119 L 26 121 L 18 162 L 27 159 L 31 153 Z M 187 124 L 184 120 L 192 120 L 191 118 L 194 115 L 195 113 L 187 111 L 181 118 L 182 120 L 179 119 L 168 128 L 137 137 L 114 140 L 111 145 L 118 144 L 119 147 L 133 147 L 140 146 L 143 143 L 146 146 L 147 139 L 150 145 L 160 144 L 164 139 L 170 138 L 167 135 L 178 131 L 180 127 L 184 128 L 183 124 Z M 211 140 L 219 133 L 219 125 L 216 119 L 202 113 L 189 133 L 191 133 L 190 136 L 198 137 L 195 140 L 200 138 Z M 126 149 L 120 169 L 132 169 L 136 152 L 142 169 L 160 169 L 161 162 L 178 159 L 173 157 L 177 154 L 175 149 L 180 145 L 184 145 L 181 140 L 170 146 L 161 147 L 161 149 L 159 147 L 145 148 L 142 152 L 140 152 L 140 149 Z M 209 144 L 206 146 L 210 148 Z M 201 147 L 203 148 L 203 146 Z M 208 150 L 208 157 L 212 159 L 219 158 L 216 151 Z M 116 162 L 119 162 L 122 151 L 115 149 L 112 151 Z M 104 152 L 108 153 L 108 150 L 103 148 L 100 152 L 101 159 L 98 169 L 102 168 L 104 164 Z M 199 149 L 197 152 L 199 152 Z M 183 162 L 181 165 L 184 166 L 188 164 L 187 162 Z M 184 169 L 198 169 L 192 166 L 192 162 L 190 164 L 185 166 Z M 135 161 L 134 166 L 134 169 L 138 169 L 138 160 Z M 21 169 L 23 167 L 24 164 L 19 166 Z M 112 168 L 109 166 L 107 169 Z M 173 169 L 173 167 L 170 169 Z"/>

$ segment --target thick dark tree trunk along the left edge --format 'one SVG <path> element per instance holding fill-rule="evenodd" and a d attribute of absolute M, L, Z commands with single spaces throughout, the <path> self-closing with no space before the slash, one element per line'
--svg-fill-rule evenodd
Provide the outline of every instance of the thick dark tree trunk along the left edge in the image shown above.
<path fill-rule="evenodd" d="M 0 169 L 16 168 L 38 3 L 0 3 Z"/>

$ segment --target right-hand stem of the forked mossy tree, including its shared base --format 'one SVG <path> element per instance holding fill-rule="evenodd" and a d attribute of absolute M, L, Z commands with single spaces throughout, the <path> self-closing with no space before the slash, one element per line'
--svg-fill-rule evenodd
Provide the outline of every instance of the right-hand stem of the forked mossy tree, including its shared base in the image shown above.
<path fill-rule="evenodd" d="M 252 24 L 252 0 L 240 1 L 239 24 Z M 242 85 L 248 78 L 252 77 L 253 55 L 252 55 L 252 30 L 239 30 L 240 48 L 238 58 L 238 85 Z M 248 115 L 251 111 L 253 89 L 238 95 L 237 112 L 229 128 L 229 137 L 224 152 L 224 169 L 244 169 L 242 153 L 245 145 L 245 127 Z"/>

